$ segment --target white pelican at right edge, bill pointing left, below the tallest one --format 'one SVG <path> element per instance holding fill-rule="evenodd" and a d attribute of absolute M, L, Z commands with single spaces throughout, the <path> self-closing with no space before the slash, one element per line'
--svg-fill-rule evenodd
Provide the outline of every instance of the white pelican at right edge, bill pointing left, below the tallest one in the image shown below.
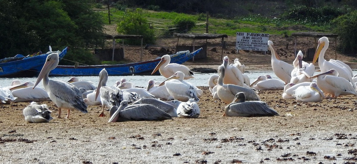
<path fill-rule="evenodd" d="M 338 77 L 338 71 L 335 69 L 312 76 L 311 78 L 317 78 L 316 83 L 318 88 L 325 93 L 331 94 L 333 99 L 336 99 L 340 95 L 357 96 L 356 90 L 353 88 L 350 81 Z"/>

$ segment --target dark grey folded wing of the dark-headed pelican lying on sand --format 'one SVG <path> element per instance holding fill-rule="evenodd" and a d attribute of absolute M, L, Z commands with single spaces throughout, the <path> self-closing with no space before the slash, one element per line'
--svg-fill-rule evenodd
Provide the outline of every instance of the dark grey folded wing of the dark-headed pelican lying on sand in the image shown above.
<path fill-rule="evenodd" d="M 239 114 L 239 116 L 274 116 L 279 115 L 274 109 L 263 101 L 245 101 L 228 105 L 226 110 Z"/>

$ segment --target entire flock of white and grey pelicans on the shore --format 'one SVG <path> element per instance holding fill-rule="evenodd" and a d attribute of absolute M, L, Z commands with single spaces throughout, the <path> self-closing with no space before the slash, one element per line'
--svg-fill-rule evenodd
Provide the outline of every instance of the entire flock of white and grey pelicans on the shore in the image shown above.
<path fill-rule="evenodd" d="M 284 90 L 283 99 L 305 102 L 317 102 L 340 95 L 357 96 L 357 81 L 351 68 L 339 60 L 326 61 L 323 58 L 328 43 L 326 37 L 318 41 L 313 63 L 318 59 L 322 73 L 313 75 L 315 66 L 302 61 L 301 51 L 293 65 L 290 65 L 279 60 L 273 42 L 269 40 L 272 69 L 280 80 L 272 79 L 270 75 L 261 75 L 250 83 L 244 74 L 245 65 L 238 59 L 235 59 L 234 64 L 229 64 L 228 56 L 225 56 L 223 64 L 218 67 L 219 74 L 212 75 L 208 80 L 212 97 L 228 104 L 223 116 L 249 117 L 279 115 L 261 101 L 257 95 L 259 90 Z M 108 73 L 105 69 L 99 73 L 97 87 L 93 82 L 79 81 L 76 77 L 69 81 L 50 80 L 49 73 L 58 63 L 58 53 L 48 55 L 36 83 L 20 84 L 20 81 L 14 80 L 11 86 L 2 88 L 0 103 L 34 101 L 23 110 L 25 120 L 29 123 L 49 122 L 52 119 L 48 106 L 35 102 L 48 100 L 57 105 L 58 118 L 61 118 L 61 109 L 67 109 L 66 118 L 69 118 L 71 109 L 88 113 L 87 105 L 99 104 L 102 104 L 99 116 L 105 116 L 105 109 L 110 109 L 108 122 L 197 118 L 200 115 L 197 103 L 203 91 L 185 81 L 193 78 L 193 73 L 184 65 L 169 64 L 169 55 L 162 56 L 152 72 L 159 70 L 167 79 L 162 83 L 149 80 L 146 88 L 133 87 L 134 84 L 125 78 L 113 86 L 107 86 Z M 37 86 L 41 80 L 44 88 Z"/>

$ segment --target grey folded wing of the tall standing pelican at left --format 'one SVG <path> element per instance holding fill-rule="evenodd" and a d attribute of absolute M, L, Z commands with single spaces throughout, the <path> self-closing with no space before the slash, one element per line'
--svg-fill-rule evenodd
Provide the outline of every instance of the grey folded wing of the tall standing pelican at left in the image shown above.
<path fill-rule="evenodd" d="M 79 110 L 82 113 L 88 113 L 87 105 L 82 99 L 82 93 L 76 86 L 65 81 L 56 80 L 49 80 L 49 86 L 49 92 L 51 94 L 60 98 L 62 101 L 68 102 L 76 110 Z"/>

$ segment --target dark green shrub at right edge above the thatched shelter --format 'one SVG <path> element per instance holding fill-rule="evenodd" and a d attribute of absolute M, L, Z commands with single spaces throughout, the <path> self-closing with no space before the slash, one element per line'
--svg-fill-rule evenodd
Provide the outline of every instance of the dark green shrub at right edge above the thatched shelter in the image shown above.
<path fill-rule="evenodd" d="M 333 31 L 338 34 L 338 50 L 356 56 L 357 52 L 357 11 L 342 15 L 332 21 Z"/>

